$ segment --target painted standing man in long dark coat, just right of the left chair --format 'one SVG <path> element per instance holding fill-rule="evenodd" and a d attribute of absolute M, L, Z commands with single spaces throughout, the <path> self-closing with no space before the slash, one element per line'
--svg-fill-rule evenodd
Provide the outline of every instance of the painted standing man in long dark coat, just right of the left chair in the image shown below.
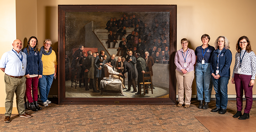
<path fill-rule="evenodd" d="M 85 77 L 85 90 L 89 90 L 88 87 L 88 79 L 90 79 L 90 89 L 93 89 L 94 92 L 99 93 L 100 91 L 96 89 L 94 82 L 94 57 L 92 56 L 92 51 L 87 52 L 88 56 L 83 62 L 83 69 L 85 69 L 84 77 Z"/>

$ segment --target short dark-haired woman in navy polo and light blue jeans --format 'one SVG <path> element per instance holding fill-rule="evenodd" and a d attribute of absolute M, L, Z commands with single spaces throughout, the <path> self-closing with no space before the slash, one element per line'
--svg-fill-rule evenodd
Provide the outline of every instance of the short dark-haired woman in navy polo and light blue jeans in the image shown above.
<path fill-rule="evenodd" d="M 202 45 L 195 49 L 195 56 L 197 57 L 195 65 L 195 82 L 197 89 L 197 99 L 199 100 L 199 109 L 209 108 L 208 103 L 211 100 L 211 90 L 213 83 L 211 80 L 210 62 L 211 55 L 215 50 L 213 46 L 210 46 L 210 36 L 203 34 L 201 37 Z M 205 101 L 203 106 L 203 100 Z"/>

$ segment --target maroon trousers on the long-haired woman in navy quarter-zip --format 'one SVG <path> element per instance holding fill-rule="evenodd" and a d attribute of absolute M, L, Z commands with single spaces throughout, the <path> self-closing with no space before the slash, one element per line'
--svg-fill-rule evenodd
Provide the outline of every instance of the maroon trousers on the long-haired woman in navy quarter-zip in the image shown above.
<path fill-rule="evenodd" d="M 37 96 L 38 96 L 37 86 L 38 86 L 38 77 L 26 78 L 25 94 L 29 103 L 32 103 L 33 101 L 37 101 Z M 31 94 L 31 90 L 32 90 L 33 98 Z"/>

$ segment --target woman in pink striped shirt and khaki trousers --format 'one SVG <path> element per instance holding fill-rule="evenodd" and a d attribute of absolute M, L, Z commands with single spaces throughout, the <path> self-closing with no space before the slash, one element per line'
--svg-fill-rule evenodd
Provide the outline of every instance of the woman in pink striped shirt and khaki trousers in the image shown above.
<path fill-rule="evenodd" d="M 195 52 L 188 48 L 189 41 L 186 38 L 181 39 L 182 49 L 175 54 L 174 63 L 176 65 L 176 79 L 178 82 L 178 107 L 184 103 L 184 89 L 185 89 L 185 106 L 189 108 L 192 95 L 192 82 L 194 80 L 194 64 Z"/>

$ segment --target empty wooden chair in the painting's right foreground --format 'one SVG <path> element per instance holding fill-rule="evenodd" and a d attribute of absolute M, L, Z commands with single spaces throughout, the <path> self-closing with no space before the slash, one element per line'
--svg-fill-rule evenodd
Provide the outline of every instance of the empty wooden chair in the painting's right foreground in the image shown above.
<path fill-rule="evenodd" d="M 153 94 L 153 84 L 152 84 L 152 77 L 151 77 L 151 72 L 145 72 L 143 74 L 143 82 L 140 82 L 138 84 L 138 88 L 140 88 L 140 95 L 142 93 L 142 89 L 144 92 L 144 95 L 146 94 L 145 91 L 151 91 L 151 93 Z M 142 86 L 141 86 L 142 85 Z"/>

